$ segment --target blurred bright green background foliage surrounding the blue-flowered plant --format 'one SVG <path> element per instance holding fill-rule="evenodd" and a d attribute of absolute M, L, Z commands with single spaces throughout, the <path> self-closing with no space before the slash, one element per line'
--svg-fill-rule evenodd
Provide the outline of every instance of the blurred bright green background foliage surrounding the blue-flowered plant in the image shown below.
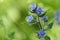
<path fill-rule="evenodd" d="M 54 19 L 54 12 L 60 8 L 60 0 L 0 0 L 0 40 L 40 40 L 36 36 L 39 27 L 28 25 L 25 20 L 30 13 L 28 7 L 33 3 L 49 9 L 46 14 L 49 21 Z M 60 40 L 60 26 L 55 22 L 46 33 L 51 40 Z"/>

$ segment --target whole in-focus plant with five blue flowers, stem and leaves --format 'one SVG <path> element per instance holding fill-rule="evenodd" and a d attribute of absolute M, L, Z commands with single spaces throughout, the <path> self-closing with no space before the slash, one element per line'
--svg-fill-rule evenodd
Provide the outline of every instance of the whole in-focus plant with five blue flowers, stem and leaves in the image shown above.
<path fill-rule="evenodd" d="M 48 22 L 48 16 L 45 15 L 45 14 L 47 13 L 47 10 L 44 11 L 44 9 L 38 7 L 37 4 L 32 4 L 32 5 L 30 5 L 29 10 L 30 10 L 31 13 L 34 13 L 34 14 L 37 15 L 36 18 L 37 18 L 38 21 L 35 20 L 35 22 L 38 23 L 38 26 L 40 27 L 40 31 L 37 33 L 37 34 L 38 34 L 38 37 L 40 37 L 40 38 L 45 38 L 46 40 L 47 40 L 47 39 L 50 40 L 50 38 L 46 35 L 46 30 L 52 28 L 53 22 L 50 22 L 50 23 L 47 25 L 46 28 L 45 28 L 45 27 L 43 28 L 42 25 L 41 25 L 41 20 L 42 20 L 43 22 Z M 40 19 L 41 19 L 41 20 L 40 20 Z M 32 21 L 34 21 L 34 16 L 33 16 L 33 15 L 27 16 L 26 21 L 27 21 L 27 22 L 32 22 Z"/>

